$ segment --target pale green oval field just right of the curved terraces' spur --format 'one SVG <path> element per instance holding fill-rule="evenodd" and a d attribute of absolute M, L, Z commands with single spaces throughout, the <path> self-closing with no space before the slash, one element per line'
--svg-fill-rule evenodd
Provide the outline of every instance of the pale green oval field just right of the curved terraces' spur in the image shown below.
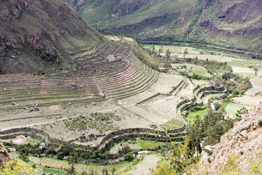
<path fill-rule="evenodd" d="M 179 64 L 176 64 L 179 69 L 178 71 L 182 71 L 182 68 L 181 66 L 183 65 L 186 65 L 186 72 L 188 73 L 195 73 L 195 74 L 199 74 L 199 75 L 202 75 L 202 76 L 205 76 L 205 77 L 211 77 L 212 75 L 210 73 L 207 72 L 207 69 L 203 66 L 200 66 L 200 65 L 194 65 L 194 64 L 188 64 L 188 63 L 179 63 Z"/>

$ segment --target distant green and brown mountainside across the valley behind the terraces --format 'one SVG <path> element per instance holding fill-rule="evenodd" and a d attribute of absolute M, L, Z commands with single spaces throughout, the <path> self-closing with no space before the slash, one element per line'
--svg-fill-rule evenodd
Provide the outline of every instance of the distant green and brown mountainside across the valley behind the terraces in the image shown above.
<path fill-rule="evenodd" d="M 262 52 L 261 0 L 66 1 L 103 32 Z"/>

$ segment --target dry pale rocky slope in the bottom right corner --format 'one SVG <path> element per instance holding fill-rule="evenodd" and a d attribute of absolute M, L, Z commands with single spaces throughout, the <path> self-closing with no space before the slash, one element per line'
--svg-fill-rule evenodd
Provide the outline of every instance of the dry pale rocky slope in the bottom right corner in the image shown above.
<path fill-rule="evenodd" d="M 206 153 L 199 162 L 198 173 L 209 174 L 225 169 L 229 157 L 233 157 L 243 173 L 254 173 L 254 167 L 261 168 L 262 163 L 262 104 L 256 106 L 249 114 L 227 132 L 220 143 L 206 146 Z M 231 164 L 232 160 L 231 160 Z"/>

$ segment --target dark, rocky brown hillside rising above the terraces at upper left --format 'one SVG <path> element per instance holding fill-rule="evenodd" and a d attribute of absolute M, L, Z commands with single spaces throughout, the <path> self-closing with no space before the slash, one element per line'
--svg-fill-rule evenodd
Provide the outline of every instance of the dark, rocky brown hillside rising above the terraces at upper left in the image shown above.
<path fill-rule="evenodd" d="M 0 0 L 0 73 L 66 64 L 101 39 L 63 0 Z"/>

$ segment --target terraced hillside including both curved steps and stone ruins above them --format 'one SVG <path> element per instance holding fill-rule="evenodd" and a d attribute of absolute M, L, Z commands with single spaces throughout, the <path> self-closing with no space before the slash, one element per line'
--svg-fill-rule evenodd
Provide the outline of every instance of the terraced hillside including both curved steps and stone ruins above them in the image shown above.
<path fill-rule="evenodd" d="M 76 58 L 75 69 L 55 70 L 49 77 L 0 75 L 0 108 L 28 107 L 30 110 L 34 104 L 124 98 L 142 92 L 157 80 L 159 72 L 142 63 L 130 46 L 99 47 L 104 49 Z M 109 61 L 108 55 L 115 57 Z"/>

